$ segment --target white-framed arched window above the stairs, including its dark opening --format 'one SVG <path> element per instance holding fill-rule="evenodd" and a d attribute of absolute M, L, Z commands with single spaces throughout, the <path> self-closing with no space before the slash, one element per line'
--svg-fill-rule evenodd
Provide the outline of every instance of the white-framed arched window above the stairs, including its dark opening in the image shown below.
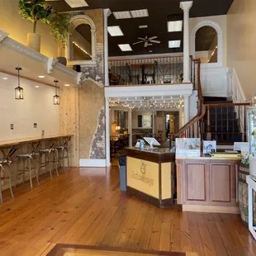
<path fill-rule="evenodd" d="M 223 33 L 216 21 L 200 21 L 193 27 L 191 53 L 194 58 L 200 58 L 206 64 L 218 67 L 223 65 Z"/>

